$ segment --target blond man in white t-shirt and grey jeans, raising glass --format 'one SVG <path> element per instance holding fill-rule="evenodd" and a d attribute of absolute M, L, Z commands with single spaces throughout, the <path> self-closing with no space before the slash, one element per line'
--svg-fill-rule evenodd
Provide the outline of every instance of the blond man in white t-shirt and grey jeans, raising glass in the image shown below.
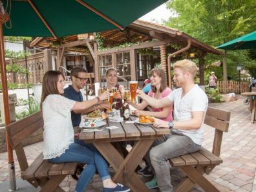
<path fill-rule="evenodd" d="M 168 159 L 200 149 L 204 133 L 202 123 L 208 107 L 206 93 L 194 83 L 197 65 L 193 61 L 184 59 L 177 61 L 173 67 L 173 80 L 180 88 L 175 89 L 169 96 L 156 100 L 140 90 L 137 91 L 138 96 L 152 107 L 174 105 L 173 122 L 163 120 L 155 122 L 155 127 L 169 127 L 170 134 L 156 140 L 145 156 L 155 170 L 155 177 L 146 185 L 151 189 L 159 187 L 162 192 L 173 191 Z"/>

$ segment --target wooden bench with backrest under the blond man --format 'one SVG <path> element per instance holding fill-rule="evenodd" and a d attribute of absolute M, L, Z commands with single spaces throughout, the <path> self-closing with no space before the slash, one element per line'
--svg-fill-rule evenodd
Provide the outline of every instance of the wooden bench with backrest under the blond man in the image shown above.
<path fill-rule="evenodd" d="M 230 112 L 208 107 L 204 123 L 215 128 L 212 152 L 201 147 L 196 153 L 169 160 L 173 167 L 179 167 L 186 174 L 186 179 L 176 188 L 176 192 L 190 191 L 195 184 L 202 187 L 204 191 L 219 192 L 219 189 L 204 177 L 204 173 L 209 175 L 215 166 L 223 162 L 220 158 L 220 148 L 222 134 L 228 132 L 229 120 Z"/>

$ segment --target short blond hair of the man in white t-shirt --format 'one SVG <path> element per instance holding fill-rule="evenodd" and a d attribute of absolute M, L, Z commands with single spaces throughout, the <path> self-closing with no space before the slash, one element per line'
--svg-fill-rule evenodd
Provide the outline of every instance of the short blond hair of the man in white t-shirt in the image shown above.
<path fill-rule="evenodd" d="M 188 59 L 176 61 L 175 64 L 173 65 L 173 68 L 175 67 L 183 71 L 189 72 L 193 76 L 193 78 L 197 74 L 197 70 L 198 70 L 197 64 Z"/>

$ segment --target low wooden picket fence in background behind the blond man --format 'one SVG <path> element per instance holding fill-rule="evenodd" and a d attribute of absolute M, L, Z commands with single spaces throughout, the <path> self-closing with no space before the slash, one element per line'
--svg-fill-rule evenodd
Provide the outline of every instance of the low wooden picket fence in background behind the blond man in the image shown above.
<path fill-rule="evenodd" d="M 228 93 L 228 92 L 241 93 L 241 92 L 249 91 L 248 82 L 239 83 L 239 81 L 218 81 L 217 85 L 221 93 Z"/>

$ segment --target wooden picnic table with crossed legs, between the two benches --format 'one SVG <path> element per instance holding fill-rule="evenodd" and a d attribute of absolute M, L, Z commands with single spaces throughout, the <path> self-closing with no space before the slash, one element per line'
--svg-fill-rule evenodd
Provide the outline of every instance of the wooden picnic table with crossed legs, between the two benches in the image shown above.
<path fill-rule="evenodd" d="M 135 117 L 131 117 L 131 120 L 134 119 Z M 109 126 L 115 125 L 119 128 L 104 129 L 98 132 L 81 131 L 79 139 L 84 140 L 84 142 L 92 142 L 107 162 L 113 166 L 116 172 L 113 178 L 114 182 L 128 185 L 134 192 L 149 192 L 149 189 L 134 171 L 155 138 L 169 134 L 169 129 L 156 129 L 151 126 L 125 122 L 114 123 L 107 121 L 107 124 Z M 123 157 L 112 145 L 112 142 L 133 140 L 135 141 L 133 149 L 126 157 Z"/>

